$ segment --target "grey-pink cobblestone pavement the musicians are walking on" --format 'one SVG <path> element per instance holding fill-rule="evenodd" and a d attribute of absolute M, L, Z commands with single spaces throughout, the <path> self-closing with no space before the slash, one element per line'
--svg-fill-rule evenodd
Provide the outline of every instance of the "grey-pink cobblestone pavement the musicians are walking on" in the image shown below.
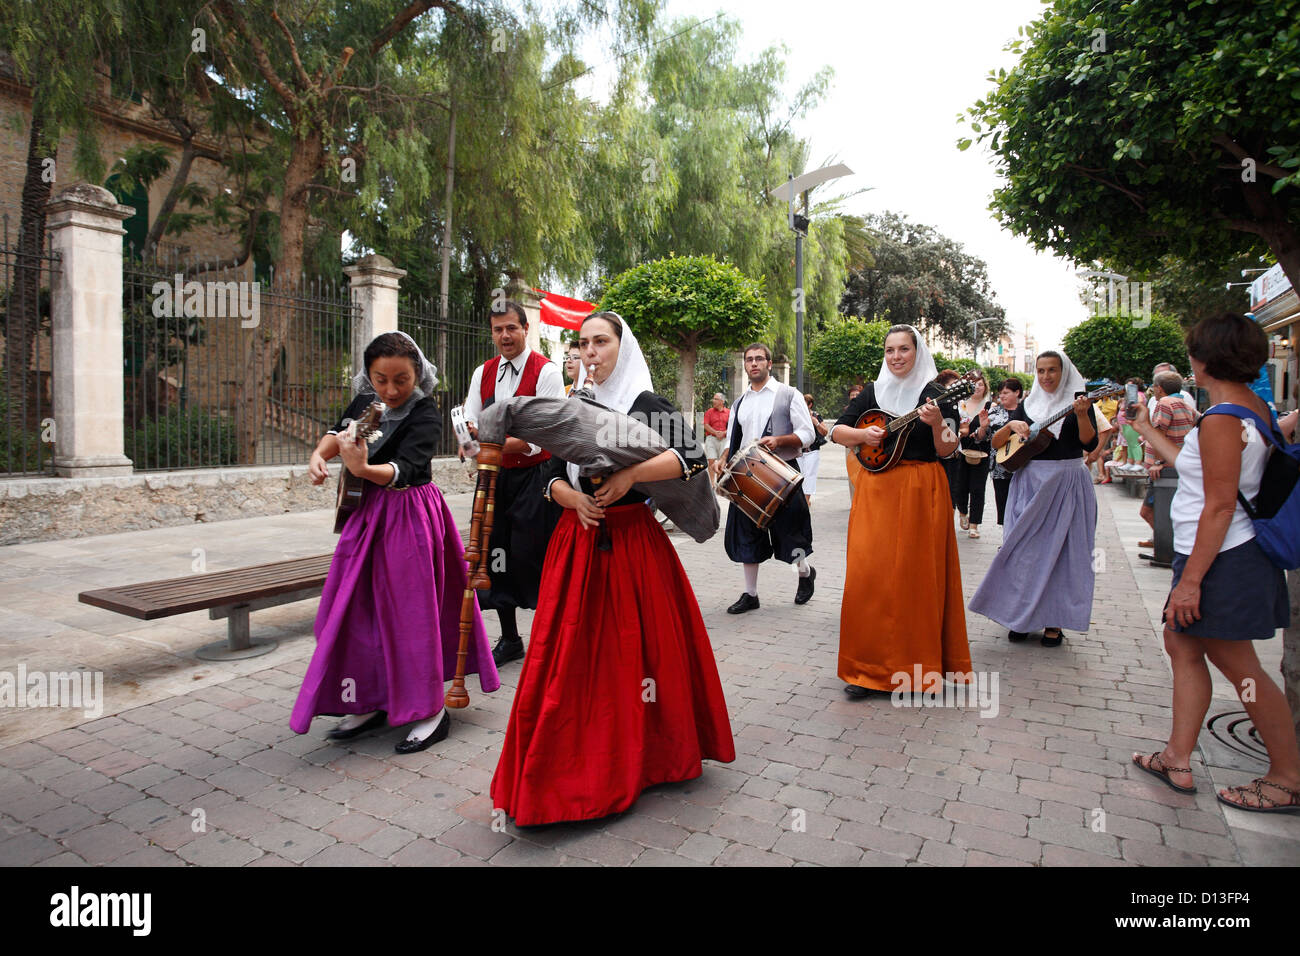
<path fill-rule="evenodd" d="M 835 675 L 849 496 L 836 457 L 823 454 L 822 471 L 818 585 L 802 607 L 793 574 L 768 563 L 762 609 L 727 615 L 741 576 L 720 535 L 703 545 L 673 536 L 714 641 L 736 762 L 655 787 L 620 817 L 537 830 L 494 829 L 488 797 L 517 663 L 499 693 L 471 682 L 447 741 L 402 757 L 395 728 L 343 745 L 324 740 L 333 719 L 289 730 L 313 601 L 254 613 L 254 635 L 280 646 L 235 663 L 192 657 L 225 633 L 204 614 L 146 624 L 77 604 L 86 588 L 329 550 L 324 512 L 3 549 L 0 671 L 100 671 L 107 702 L 98 719 L 0 710 L 0 864 L 1300 862 L 1300 821 L 1214 799 L 1210 778 L 1225 786 L 1258 770 L 1206 773 L 1193 760 L 1200 792 L 1184 796 L 1130 763 L 1162 745 L 1170 717 L 1153 623 L 1169 578 L 1136 559 L 1140 502 L 1098 489 L 1088 633 L 1067 632 L 1057 649 L 1011 645 L 970 617 L 975 667 L 998 679 L 997 715 L 896 708 L 846 698 Z M 451 502 L 464 519 L 468 496 Z M 992 494 L 984 532 L 959 537 L 967 598 L 1001 541 Z M 1212 713 L 1234 704 L 1216 700 Z"/>

